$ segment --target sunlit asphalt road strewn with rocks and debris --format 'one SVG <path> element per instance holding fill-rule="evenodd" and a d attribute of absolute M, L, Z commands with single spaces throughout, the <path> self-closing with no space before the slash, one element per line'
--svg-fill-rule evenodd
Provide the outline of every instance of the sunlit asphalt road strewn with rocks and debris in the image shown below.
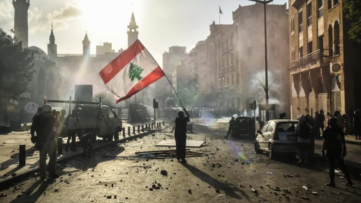
<path fill-rule="evenodd" d="M 155 147 L 170 139 L 171 128 L 134 141 L 95 151 L 93 158 L 78 158 L 58 165 L 59 178 L 29 178 L 0 191 L 0 202 L 359 202 L 360 181 L 345 186 L 342 172 L 337 188 L 326 187 L 327 166 L 296 165 L 293 156 L 270 160 L 253 152 L 253 142 L 225 139 L 227 124 L 212 119 L 193 120 L 193 140 L 207 146 L 191 148 L 203 156 L 176 159 L 125 159 L 135 152 L 169 150 Z M 171 147 L 171 149 L 174 149 Z M 351 149 L 351 147 L 350 147 Z M 161 174 L 161 170 L 167 175 Z M 303 186 L 307 184 L 308 190 Z M 316 193 L 312 193 L 316 192 Z M 6 196 L 5 196 L 6 195 Z"/>

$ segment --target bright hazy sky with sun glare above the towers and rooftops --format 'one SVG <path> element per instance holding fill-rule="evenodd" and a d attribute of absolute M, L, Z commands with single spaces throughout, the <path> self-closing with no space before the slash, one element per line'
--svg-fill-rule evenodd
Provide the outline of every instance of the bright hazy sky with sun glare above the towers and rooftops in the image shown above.
<path fill-rule="evenodd" d="M 284 4 L 288 0 L 274 0 Z M 170 46 L 186 46 L 190 51 L 209 35 L 209 25 L 232 23 L 232 11 L 238 5 L 254 4 L 247 0 L 31 0 L 29 46 L 47 52 L 51 22 L 58 53 L 82 53 L 87 31 L 95 46 L 110 42 L 113 49 L 127 48 L 127 25 L 134 10 L 139 26 L 139 40 L 162 66 L 162 53 Z M 12 0 L 0 0 L 0 27 L 9 33 L 14 26 Z"/>

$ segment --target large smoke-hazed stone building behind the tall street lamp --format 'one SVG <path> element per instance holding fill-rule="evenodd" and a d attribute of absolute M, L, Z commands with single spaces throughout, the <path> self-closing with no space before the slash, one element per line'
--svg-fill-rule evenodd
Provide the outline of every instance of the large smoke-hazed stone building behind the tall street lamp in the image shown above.
<path fill-rule="evenodd" d="M 232 13 L 233 23 L 209 26 L 210 35 L 190 51 L 185 68 L 197 69 L 197 89 L 218 94 L 213 106 L 248 111 L 249 101 L 265 103 L 264 6 L 260 3 L 240 6 Z M 289 112 L 288 14 L 286 4 L 267 5 L 267 42 L 270 103 L 278 111 Z M 186 69 L 185 72 L 191 72 Z M 190 76 L 191 77 L 191 76 Z M 258 78 L 258 79 L 257 79 Z M 194 81 L 188 78 L 187 81 Z"/>

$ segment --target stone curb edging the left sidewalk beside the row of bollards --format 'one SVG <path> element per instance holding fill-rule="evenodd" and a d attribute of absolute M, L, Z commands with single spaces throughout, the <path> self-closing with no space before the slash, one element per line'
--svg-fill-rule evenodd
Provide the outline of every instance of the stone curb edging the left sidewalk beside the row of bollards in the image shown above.
<path fill-rule="evenodd" d="M 153 130 L 149 130 L 147 132 L 140 133 L 140 134 L 137 134 L 137 135 L 133 135 L 133 136 L 130 136 L 130 137 L 123 137 L 122 139 L 119 139 L 117 141 L 112 141 L 112 142 L 107 142 L 107 143 L 104 143 L 104 144 L 100 144 L 99 146 L 94 147 L 93 150 L 95 150 L 97 148 L 106 147 L 106 146 L 109 146 L 109 145 L 112 145 L 112 144 L 116 144 L 116 143 L 122 143 L 122 142 L 125 142 L 125 141 L 128 141 L 128 140 L 143 137 L 144 135 L 148 135 L 150 133 L 156 133 L 156 132 L 157 132 L 157 129 L 153 129 Z M 80 156 L 82 154 L 83 154 L 83 152 L 79 151 L 76 154 L 69 155 L 69 156 L 66 156 L 66 157 L 61 157 L 60 159 L 58 159 L 56 161 L 56 163 L 61 164 L 61 163 L 68 162 L 69 160 L 74 159 L 75 157 L 78 157 L 78 156 Z M 26 170 L 26 171 L 21 172 L 19 174 L 16 174 L 16 176 L 8 176 L 8 177 L 6 177 L 6 178 L 4 178 L 3 180 L 0 181 L 0 185 L 1 185 L 0 189 L 10 187 L 13 183 L 20 182 L 20 181 L 26 179 L 27 177 L 32 176 L 32 174 L 34 174 L 34 173 L 36 173 L 38 171 L 39 171 L 39 166 L 37 166 L 35 168 L 32 168 L 32 169 L 29 169 L 29 170 Z"/>

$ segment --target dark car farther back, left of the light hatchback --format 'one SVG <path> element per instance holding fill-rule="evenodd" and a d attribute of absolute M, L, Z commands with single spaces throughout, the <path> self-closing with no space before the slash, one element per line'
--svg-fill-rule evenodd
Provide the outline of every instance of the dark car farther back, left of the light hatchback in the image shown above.
<path fill-rule="evenodd" d="M 255 139 L 255 120 L 249 116 L 238 116 L 236 118 L 235 127 L 232 129 L 234 138 L 247 137 Z"/>

